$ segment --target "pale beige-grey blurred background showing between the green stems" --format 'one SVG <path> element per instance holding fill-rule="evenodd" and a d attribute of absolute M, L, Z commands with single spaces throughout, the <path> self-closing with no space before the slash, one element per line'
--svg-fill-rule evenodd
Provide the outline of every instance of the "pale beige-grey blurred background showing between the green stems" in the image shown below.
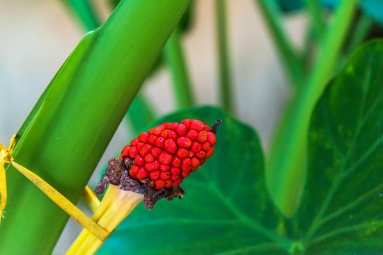
<path fill-rule="evenodd" d="M 95 0 L 107 19 L 109 1 Z M 286 76 L 269 38 L 267 27 L 252 0 L 228 0 L 228 42 L 233 70 L 236 117 L 255 127 L 267 149 L 276 118 L 289 96 Z M 190 31 L 183 37 L 185 60 L 198 104 L 219 104 L 217 94 L 217 34 L 213 0 L 196 1 Z M 304 12 L 285 17 L 290 37 L 303 42 Z M 0 141 L 8 145 L 54 74 L 86 33 L 62 1 L 0 1 Z M 143 85 L 159 115 L 175 110 L 171 77 L 166 68 Z M 90 185 L 97 182 L 109 158 L 131 140 L 132 130 L 122 122 L 105 151 Z M 86 206 L 81 204 L 86 211 Z M 70 220 L 56 245 L 64 254 L 81 230 Z"/>

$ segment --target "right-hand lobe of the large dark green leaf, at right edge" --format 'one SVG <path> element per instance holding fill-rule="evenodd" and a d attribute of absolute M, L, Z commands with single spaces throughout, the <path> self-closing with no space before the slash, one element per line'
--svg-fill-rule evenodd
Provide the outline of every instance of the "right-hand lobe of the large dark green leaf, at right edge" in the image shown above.
<path fill-rule="evenodd" d="M 299 219 L 308 254 L 383 251 L 383 41 L 330 83 L 311 120 Z"/>

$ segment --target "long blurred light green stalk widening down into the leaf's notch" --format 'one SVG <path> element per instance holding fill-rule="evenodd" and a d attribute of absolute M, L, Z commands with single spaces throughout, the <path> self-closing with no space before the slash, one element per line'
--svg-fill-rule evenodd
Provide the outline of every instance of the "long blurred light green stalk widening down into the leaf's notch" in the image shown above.
<path fill-rule="evenodd" d="M 297 210 L 306 178 L 304 164 L 311 113 L 334 73 L 339 51 L 357 2 L 357 0 L 341 2 L 322 42 L 313 73 L 307 84 L 295 95 L 273 141 L 267 163 L 267 184 L 274 203 L 288 217 Z"/>

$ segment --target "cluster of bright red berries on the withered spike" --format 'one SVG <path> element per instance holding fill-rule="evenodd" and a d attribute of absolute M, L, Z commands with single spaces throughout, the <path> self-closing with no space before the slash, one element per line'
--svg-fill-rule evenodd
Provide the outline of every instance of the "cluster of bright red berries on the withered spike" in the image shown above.
<path fill-rule="evenodd" d="M 134 160 L 130 177 L 159 190 L 179 186 L 212 156 L 215 142 L 215 134 L 200 120 L 167 122 L 140 133 L 121 157 Z"/>

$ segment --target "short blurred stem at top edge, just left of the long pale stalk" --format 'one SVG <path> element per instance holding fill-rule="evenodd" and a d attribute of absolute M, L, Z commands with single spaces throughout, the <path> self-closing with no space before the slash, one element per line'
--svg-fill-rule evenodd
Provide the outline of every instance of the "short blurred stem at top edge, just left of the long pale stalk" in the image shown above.
<path fill-rule="evenodd" d="M 308 16 L 311 18 L 311 25 L 315 31 L 315 38 L 320 42 L 320 38 L 325 34 L 326 23 L 322 17 L 322 8 L 318 0 L 305 0 Z"/>

